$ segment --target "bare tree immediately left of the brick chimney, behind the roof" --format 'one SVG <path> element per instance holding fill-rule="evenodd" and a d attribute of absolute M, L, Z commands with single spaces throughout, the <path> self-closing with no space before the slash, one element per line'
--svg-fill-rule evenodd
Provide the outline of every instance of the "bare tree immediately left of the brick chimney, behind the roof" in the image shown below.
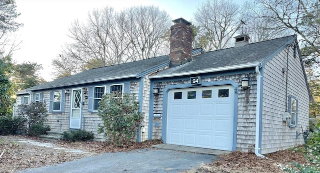
<path fill-rule="evenodd" d="M 120 13 L 129 41 L 130 60 L 141 60 L 168 53 L 162 39 L 170 27 L 169 15 L 155 6 L 134 6 Z"/>

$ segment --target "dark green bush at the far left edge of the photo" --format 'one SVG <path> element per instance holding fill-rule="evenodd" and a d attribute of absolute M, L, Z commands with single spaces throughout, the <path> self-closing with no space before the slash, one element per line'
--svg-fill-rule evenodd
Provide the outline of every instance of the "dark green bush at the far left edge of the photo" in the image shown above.
<path fill-rule="evenodd" d="M 25 129 L 26 119 L 23 117 L 0 116 L 0 135 L 20 134 Z"/>

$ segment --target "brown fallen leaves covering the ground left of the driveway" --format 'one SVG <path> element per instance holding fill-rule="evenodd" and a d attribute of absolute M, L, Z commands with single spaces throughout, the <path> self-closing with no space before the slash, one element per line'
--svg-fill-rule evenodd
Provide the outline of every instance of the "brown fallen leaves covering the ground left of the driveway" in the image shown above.
<path fill-rule="evenodd" d="M 63 150 L 34 146 L 26 143 L 18 143 L 17 140 L 19 139 L 25 140 L 26 137 L 0 136 L 0 151 L 3 152 L 2 157 L 0 157 L 1 173 L 13 173 L 27 168 L 51 166 L 106 152 L 132 151 L 161 143 L 160 140 L 150 140 L 142 143 L 131 143 L 130 145 L 123 147 L 113 147 L 105 142 L 97 141 L 74 143 L 65 141 L 52 142 L 57 148 L 63 147 L 66 149 L 77 149 L 88 152 L 78 154 Z M 27 139 L 36 140 L 38 142 L 48 142 L 41 141 L 39 138 Z"/>

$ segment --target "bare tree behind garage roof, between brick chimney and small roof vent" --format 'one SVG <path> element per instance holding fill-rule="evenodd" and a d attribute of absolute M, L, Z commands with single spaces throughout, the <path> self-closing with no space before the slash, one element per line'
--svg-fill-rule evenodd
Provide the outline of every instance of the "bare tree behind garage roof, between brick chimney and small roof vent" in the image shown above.
<path fill-rule="evenodd" d="M 232 0 L 207 0 L 194 13 L 195 25 L 199 26 L 196 40 L 204 50 L 226 48 L 239 28 L 239 5 Z M 197 39 L 200 38 L 200 39 Z"/>

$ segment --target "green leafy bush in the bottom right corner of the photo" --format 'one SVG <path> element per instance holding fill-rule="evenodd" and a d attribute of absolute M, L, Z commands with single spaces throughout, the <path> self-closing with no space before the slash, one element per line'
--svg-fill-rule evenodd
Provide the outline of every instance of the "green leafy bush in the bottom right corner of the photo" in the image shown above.
<path fill-rule="evenodd" d="M 309 165 L 293 163 L 295 168 L 285 168 L 284 171 L 290 173 L 320 173 L 320 123 L 315 127 L 315 131 L 308 135 L 305 145 L 304 156 L 310 162 Z"/>

